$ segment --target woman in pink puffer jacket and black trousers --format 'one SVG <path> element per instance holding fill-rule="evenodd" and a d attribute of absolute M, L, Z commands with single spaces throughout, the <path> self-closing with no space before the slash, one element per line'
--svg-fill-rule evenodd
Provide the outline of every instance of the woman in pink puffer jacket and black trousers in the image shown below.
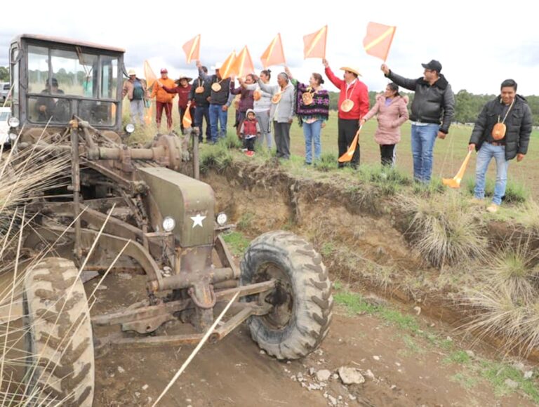
<path fill-rule="evenodd" d="M 378 114 L 378 128 L 374 140 L 380 145 L 382 166 L 392 166 L 395 145 L 401 141 L 401 126 L 408 120 L 408 96 L 399 95 L 399 86 L 388 84 L 385 92 L 376 97 L 376 103 L 361 119 L 361 126 Z"/>

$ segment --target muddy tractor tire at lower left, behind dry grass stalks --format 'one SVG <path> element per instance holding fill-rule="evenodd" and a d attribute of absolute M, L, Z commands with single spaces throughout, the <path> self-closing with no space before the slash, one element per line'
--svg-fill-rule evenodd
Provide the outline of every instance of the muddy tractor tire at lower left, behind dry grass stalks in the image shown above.
<path fill-rule="evenodd" d="M 62 406 L 89 407 L 94 389 L 93 338 L 88 301 L 77 273 L 70 260 L 46 258 L 25 276 L 26 394 L 37 393 L 39 399 L 61 401 Z"/>

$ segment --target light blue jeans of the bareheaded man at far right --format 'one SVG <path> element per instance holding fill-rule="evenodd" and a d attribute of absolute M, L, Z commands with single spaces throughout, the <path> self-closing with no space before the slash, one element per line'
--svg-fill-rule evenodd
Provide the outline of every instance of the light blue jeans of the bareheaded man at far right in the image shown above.
<path fill-rule="evenodd" d="M 500 205 L 505 195 L 507 185 L 507 166 L 509 161 L 505 159 L 505 146 L 491 145 L 484 142 L 477 153 L 477 164 L 475 166 L 475 189 L 474 196 L 477 199 L 485 197 L 485 178 L 488 164 L 491 159 L 496 160 L 496 185 L 494 186 L 493 204 Z"/>

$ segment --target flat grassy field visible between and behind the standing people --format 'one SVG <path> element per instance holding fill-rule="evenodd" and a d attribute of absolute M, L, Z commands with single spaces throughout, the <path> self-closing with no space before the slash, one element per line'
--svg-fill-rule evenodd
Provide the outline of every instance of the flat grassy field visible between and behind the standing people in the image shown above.
<path fill-rule="evenodd" d="M 128 109 L 128 105 L 124 105 Z M 128 120 L 128 113 L 124 108 L 124 119 Z M 178 109 L 173 111 L 174 128 L 180 133 L 180 117 Z M 234 133 L 234 109 L 229 110 L 228 133 Z M 374 141 L 374 133 L 377 123 L 373 119 L 368 121 L 361 133 L 359 144 L 361 148 L 361 163 L 377 165 L 380 163 L 380 149 Z M 163 126 L 164 128 L 164 126 Z M 150 127 L 151 129 L 151 127 Z M 205 130 L 204 130 L 205 131 Z M 148 133 L 148 132 L 147 132 Z M 455 173 L 460 168 L 465 155 L 467 154 L 467 144 L 472 133 L 472 126 L 452 125 L 449 129 L 449 134 L 445 140 L 438 139 L 434 145 L 434 167 L 433 176 L 439 178 L 453 178 Z M 337 114 L 331 112 L 330 119 L 326 127 L 322 129 L 321 145 L 322 154 L 338 154 L 337 146 Z M 412 175 L 413 161 L 411 154 L 411 124 L 406 123 L 401 127 L 402 140 L 397 145 L 397 168 Z M 146 138 L 145 135 L 138 135 L 140 138 Z M 509 166 L 510 182 L 517 182 L 528 190 L 535 199 L 539 199 L 539 131 L 533 131 L 531 142 L 524 161 L 517 163 L 517 160 L 512 160 Z M 298 126 L 297 120 L 291 127 L 291 152 L 296 156 L 305 155 L 305 139 L 303 138 L 303 130 Z M 336 164 L 335 164 L 336 166 Z M 473 182 L 475 171 L 475 156 L 472 156 L 470 166 L 467 169 L 462 185 L 467 185 L 468 182 Z M 488 178 L 495 178 L 495 163 L 492 162 L 488 171 Z"/>

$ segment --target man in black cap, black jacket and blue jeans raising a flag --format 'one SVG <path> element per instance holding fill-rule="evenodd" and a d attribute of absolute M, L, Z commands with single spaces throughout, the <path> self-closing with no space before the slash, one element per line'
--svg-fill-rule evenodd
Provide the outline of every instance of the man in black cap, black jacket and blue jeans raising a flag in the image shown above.
<path fill-rule="evenodd" d="M 406 79 L 382 65 L 387 78 L 403 88 L 415 91 L 412 102 L 412 155 L 413 178 L 419 182 L 430 182 L 432 175 L 432 150 L 434 141 L 444 139 L 449 132 L 455 112 L 455 95 L 446 77 L 440 74 L 441 63 L 432 60 L 421 64 L 423 77 Z"/>

